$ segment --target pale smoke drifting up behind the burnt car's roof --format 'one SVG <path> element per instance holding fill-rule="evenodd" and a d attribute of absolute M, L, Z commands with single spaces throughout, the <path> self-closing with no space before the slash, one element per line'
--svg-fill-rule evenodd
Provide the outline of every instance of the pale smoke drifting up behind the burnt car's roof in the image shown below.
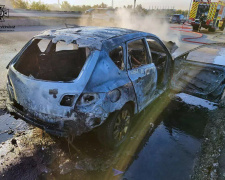
<path fill-rule="evenodd" d="M 102 15 L 104 16 L 104 15 Z M 142 15 L 134 13 L 131 9 L 120 8 L 112 15 L 114 21 L 109 21 L 107 18 L 103 19 L 90 19 L 83 18 L 80 20 L 81 25 L 86 26 L 113 26 L 126 29 L 133 29 L 155 34 L 163 41 L 173 41 L 179 44 L 180 33 L 174 32 L 170 29 L 170 24 L 166 15 L 164 14 L 151 14 Z"/>

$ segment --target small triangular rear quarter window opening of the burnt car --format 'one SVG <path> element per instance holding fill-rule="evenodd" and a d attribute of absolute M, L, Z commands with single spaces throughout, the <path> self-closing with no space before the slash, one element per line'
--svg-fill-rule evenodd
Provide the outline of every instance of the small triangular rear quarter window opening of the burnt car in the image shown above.
<path fill-rule="evenodd" d="M 112 59 L 112 61 L 115 63 L 115 65 L 121 69 L 124 70 L 124 60 L 123 60 L 123 48 L 122 46 L 119 46 L 112 51 L 109 52 L 109 57 Z"/>

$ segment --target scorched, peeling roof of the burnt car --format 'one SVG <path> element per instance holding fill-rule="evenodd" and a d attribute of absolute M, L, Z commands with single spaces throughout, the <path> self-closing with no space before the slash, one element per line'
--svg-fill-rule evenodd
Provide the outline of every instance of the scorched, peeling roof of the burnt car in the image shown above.
<path fill-rule="evenodd" d="M 54 43 L 58 41 L 65 41 L 66 43 L 75 43 L 79 47 L 90 47 L 100 50 L 103 43 L 116 39 L 116 42 L 122 43 L 129 39 L 150 35 L 149 33 L 112 27 L 76 27 L 76 28 L 63 28 L 55 30 L 47 30 L 35 36 L 37 38 L 52 38 Z M 109 43 L 108 43 L 109 46 Z"/>

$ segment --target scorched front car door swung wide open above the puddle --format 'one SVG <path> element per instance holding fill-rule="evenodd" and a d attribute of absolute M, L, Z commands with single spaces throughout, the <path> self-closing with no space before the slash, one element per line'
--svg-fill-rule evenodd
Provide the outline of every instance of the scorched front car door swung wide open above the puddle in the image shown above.
<path fill-rule="evenodd" d="M 171 87 L 213 102 L 225 88 L 225 44 L 204 45 L 174 60 Z"/>

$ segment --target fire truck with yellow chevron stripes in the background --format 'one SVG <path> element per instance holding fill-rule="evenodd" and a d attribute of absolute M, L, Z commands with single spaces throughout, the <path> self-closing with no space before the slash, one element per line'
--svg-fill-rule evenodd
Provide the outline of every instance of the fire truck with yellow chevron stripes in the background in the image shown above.
<path fill-rule="evenodd" d="M 225 26 L 225 0 L 193 0 L 189 14 L 189 20 L 193 30 L 198 30 L 200 17 L 204 14 L 205 20 L 201 27 L 215 32 L 217 29 L 223 31 Z"/>

